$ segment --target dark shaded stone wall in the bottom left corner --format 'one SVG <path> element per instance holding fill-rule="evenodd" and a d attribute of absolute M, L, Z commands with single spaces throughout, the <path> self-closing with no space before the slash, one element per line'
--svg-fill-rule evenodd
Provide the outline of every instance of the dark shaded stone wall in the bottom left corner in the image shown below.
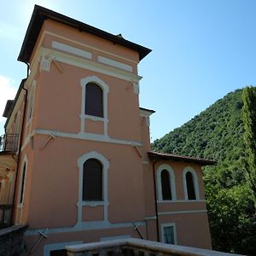
<path fill-rule="evenodd" d="M 25 256 L 26 244 L 23 234 L 26 225 L 16 225 L 0 230 L 0 255 Z"/>

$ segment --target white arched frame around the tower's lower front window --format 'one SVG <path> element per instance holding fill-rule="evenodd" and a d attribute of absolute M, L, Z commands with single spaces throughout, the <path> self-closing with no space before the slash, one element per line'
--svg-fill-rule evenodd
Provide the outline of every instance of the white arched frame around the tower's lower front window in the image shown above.
<path fill-rule="evenodd" d="M 89 159 L 96 159 L 102 164 L 102 192 L 103 200 L 102 201 L 83 201 L 83 174 L 84 174 L 84 162 Z M 78 223 L 82 222 L 82 207 L 90 206 L 103 206 L 104 207 L 104 221 L 108 221 L 108 168 L 109 161 L 102 154 L 99 154 L 96 151 L 91 151 L 90 153 L 83 154 L 78 159 L 79 166 L 79 201 L 77 206 L 79 207 L 78 211 Z"/>

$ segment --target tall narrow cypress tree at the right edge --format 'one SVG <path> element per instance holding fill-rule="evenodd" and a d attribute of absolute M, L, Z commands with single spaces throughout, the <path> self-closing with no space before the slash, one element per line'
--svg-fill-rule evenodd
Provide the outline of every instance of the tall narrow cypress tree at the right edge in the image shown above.
<path fill-rule="evenodd" d="M 256 209 L 256 87 L 246 87 L 242 93 L 244 141 L 247 152 L 247 182 Z"/>

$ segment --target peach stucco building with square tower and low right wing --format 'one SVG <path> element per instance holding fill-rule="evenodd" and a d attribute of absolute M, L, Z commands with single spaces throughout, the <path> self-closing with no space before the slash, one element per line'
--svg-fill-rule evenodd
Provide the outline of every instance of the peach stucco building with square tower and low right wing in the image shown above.
<path fill-rule="evenodd" d="M 35 6 L 0 153 L 2 225 L 28 224 L 32 255 L 117 237 L 211 248 L 201 166 L 214 162 L 150 151 L 137 73 L 150 51 Z"/>

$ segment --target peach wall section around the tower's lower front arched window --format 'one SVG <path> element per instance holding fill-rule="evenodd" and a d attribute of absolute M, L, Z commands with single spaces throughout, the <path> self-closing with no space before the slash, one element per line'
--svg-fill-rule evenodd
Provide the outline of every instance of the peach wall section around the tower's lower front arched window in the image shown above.
<path fill-rule="evenodd" d="M 134 148 L 118 144 L 109 147 L 108 143 L 56 137 L 40 150 L 47 138 L 34 137 L 33 192 L 30 195 L 27 219 L 31 228 L 76 224 L 79 196 L 77 161 L 80 156 L 92 150 L 109 160 L 109 221 L 118 223 L 143 220 L 143 168 Z M 127 198 L 130 200 L 126 201 Z M 57 212 L 66 214 L 59 215 Z M 55 214 L 58 214 L 58 218 L 52 218 Z"/>

